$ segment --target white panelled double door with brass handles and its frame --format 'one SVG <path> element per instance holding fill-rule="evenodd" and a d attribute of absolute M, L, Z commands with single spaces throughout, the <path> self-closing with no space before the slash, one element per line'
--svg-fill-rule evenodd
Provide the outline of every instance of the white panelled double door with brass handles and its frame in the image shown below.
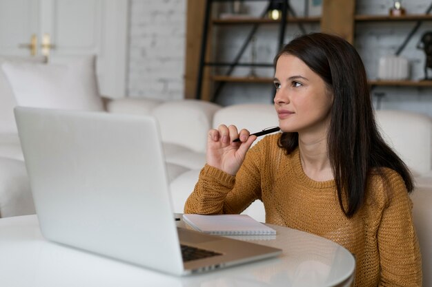
<path fill-rule="evenodd" d="M 125 96 L 128 0 L 0 0 L 0 54 L 97 55 L 101 94 Z M 37 39 L 37 51 L 31 41 Z M 51 48 L 43 49 L 49 44 Z M 33 45 L 34 47 L 35 45 Z"/>

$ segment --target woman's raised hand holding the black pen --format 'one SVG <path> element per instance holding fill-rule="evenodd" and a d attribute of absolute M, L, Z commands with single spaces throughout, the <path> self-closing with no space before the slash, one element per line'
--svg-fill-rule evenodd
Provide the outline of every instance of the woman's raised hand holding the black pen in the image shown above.
<path fill-rule="evenodd" d="M 233 142 L 236 138 L 240 141 Z M 210 129 L 207 137 L 207 164 L 235 176 L 256 139 L 256 136 L 250 136 L 247 129 L 237 131 L 234 125 L 219 125 L 217 129 Z"/>

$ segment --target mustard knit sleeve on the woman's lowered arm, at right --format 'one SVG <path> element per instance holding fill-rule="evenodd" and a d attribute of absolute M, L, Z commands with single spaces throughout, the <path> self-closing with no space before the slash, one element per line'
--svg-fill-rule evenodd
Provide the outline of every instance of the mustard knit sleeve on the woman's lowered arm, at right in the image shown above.
<path fill-rule="evenodd" d="M 388 192 L 377 231 L 380 253 L 380 286 L 422 286 L 420 247 L 415 234 L 413 204 L 404 181 L 395 173 L 387 173 Z"/>

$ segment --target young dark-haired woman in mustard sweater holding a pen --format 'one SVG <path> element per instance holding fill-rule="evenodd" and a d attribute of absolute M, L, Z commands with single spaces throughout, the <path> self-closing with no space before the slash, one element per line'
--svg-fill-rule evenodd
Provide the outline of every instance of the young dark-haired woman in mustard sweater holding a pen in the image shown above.
<path fill-rule="evenodd" d="M 333 240 L 355 255 L 355 286 L 421 286 L 413 180 L 375 124 L 366 72 L 340 37 L 299 36 L 275 58 L 282 134 L 221 125 L 185 213 L 241 213 L 262 200 L 266 222 Z M 241 142 L 233 142 L 240 138 Z"/>

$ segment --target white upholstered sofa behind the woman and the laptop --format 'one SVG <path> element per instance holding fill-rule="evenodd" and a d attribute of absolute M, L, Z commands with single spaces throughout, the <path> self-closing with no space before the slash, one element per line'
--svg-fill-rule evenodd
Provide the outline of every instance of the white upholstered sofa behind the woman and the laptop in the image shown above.
<path fill-rule="evenodd" d="M 199 100 L 122 98 L 110 100 L 106 109 L 117 114 L 151 114 L 158 119 L 176 212 L 183 211 L 206 162 L 208 129 L 222 123 L 250 131 L 277 125 L 273 105 L 265 104 L 221 107 Z M 382 110 L 376 116 L 384 138 L 413 171 L 417 187 L 432 189 L 432 119 L 406 111 Z M 0 132 L 0 171 L 0 217 L 34 212 L 17 134 Z M 264 221 L 258 202 L 246 213 Z"/>

